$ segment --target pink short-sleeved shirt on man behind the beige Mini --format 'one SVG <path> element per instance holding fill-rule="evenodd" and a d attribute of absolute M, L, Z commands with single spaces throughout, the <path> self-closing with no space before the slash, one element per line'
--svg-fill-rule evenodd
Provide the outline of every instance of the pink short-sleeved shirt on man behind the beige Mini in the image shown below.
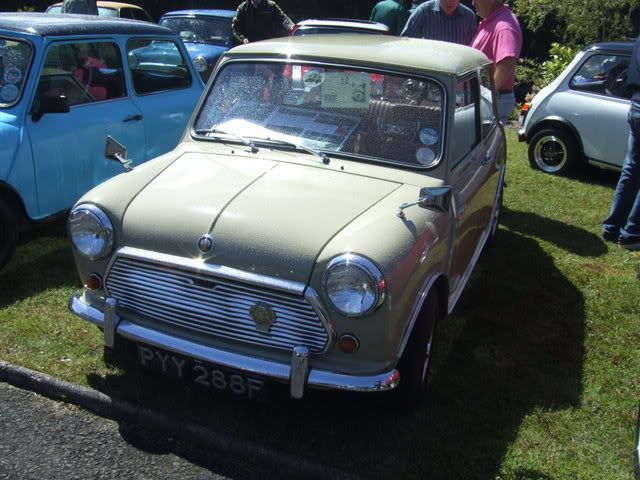
<path fill-rule="evenodd" d="M 511 13 L 509 7 L 502 5 L 480 22 L 471 46 L 489 57 L 494 67 L 496 63 L 507 57 L 520 57 L 522 30 L 518 19 Z M 507 80 L 504 87 L 513 89 L 515 80 L 514 75 Z"/>

